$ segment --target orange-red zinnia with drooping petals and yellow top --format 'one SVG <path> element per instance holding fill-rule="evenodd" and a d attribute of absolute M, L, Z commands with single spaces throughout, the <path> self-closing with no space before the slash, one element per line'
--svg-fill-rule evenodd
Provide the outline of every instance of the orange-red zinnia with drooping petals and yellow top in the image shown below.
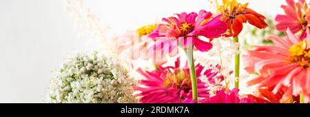
<path fill-rule="evenodd" d="M 216 3 L 218 11 L 223 14 L 222 20 L 227 23 L 229 29 L 225 36 L 238 36 L 243 28 L 242 23 L 247 23 L 247 21 L 260 29 L 268 26 L 262 14 L 247 8 L 248 3 L 241 4 L 236 0 L 223 0 L 223 6 L 218 5 L 218 2 Z"/>

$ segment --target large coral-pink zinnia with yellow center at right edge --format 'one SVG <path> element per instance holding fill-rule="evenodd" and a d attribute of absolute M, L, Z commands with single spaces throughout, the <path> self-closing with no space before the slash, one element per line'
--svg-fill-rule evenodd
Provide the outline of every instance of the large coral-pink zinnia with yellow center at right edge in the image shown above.
<path fill-rule="evenodd" d="M 274 87 L 272 92 L 277 94 L 280 89 L 287 87 L 280 103 L 292 96 L 304 94 L 304 101 L 310 99 L 310 35 L 303 41 L 294 36 L 288 29 L 287 36 L 269 36 L 268 39 L 276 46 L 256 46 L 250 50 L 245 59 L 245 70 L 249 73 L 258 72 L 260 76 L 248 82 L 248 85 L 258 87 Z"/>

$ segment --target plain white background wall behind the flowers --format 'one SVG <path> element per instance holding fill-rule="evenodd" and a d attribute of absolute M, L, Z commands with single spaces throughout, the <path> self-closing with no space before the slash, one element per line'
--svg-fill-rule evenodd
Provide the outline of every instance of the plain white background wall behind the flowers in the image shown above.
<path fill-rule="evenodd" d="M 285 0 L 249 1 L 275 16 Z M 208 8 L 208 0 L 86 0 L 102 25 L 134 30 L 177 12 Z M 64 0 L 0 0 L 0 103 L 43 103 L 50 78 L 70 53 L 93 50 L 94 39 L 77 38 Z"/>

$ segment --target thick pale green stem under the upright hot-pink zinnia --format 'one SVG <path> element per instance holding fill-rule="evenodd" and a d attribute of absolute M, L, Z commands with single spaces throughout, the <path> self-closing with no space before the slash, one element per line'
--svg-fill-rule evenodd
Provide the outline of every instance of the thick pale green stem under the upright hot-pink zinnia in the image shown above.
<path fill-rule="evenodd" d="M 185 53 L 187 55 L 187 61 L 189 65 L 189 72 L 192 81 L 192 92 L 193 92 L 193 100 L 198 100 L 197 94 L 197 79 L 196 79 L 196 69 L 194 65 L 194 54 L 193 54 L 193 46 L 189 46 L 185 49 Z"/>

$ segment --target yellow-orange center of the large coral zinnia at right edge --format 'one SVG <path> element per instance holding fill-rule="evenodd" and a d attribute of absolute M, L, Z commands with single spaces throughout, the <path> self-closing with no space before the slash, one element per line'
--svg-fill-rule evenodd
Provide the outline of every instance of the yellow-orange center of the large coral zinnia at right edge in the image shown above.
<path fill-rule="evenodd" d="M 310 49 L 307 42 L 301 41 L 289 48 L 289 57 L 293 62 L 299 63 L 302 67 L 310 67 Z"/>

